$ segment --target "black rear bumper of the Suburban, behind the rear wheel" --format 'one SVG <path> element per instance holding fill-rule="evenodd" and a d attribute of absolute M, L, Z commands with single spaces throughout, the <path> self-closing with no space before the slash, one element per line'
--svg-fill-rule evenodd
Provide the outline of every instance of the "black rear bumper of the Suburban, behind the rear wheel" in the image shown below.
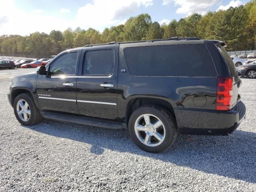
<path fill-rule="evenodd" d="M 176 109 L 175 116 L 180 134 L 229 135 L 245 118 L 246 108 L 239 101 L 229 111 Z"/>

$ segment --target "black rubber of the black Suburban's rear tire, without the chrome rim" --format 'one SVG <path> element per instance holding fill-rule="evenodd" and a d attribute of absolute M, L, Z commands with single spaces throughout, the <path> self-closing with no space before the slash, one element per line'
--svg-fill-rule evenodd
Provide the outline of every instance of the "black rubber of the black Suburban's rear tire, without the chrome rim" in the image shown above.
<path fill-rule="evenodd" d="M 156 116 L 164 125 L 165 137 L 162 143 L 160 143 L 158 146 L 147 146 L 146 144 L 143 144 L 136 136 L 136 131 L 134 128 L 135 122 L 137 118 L 139 118 L 143 114 L 152 114 Z M 130 116 L 128 130 L 129 130 L 130 137 L 132 138 L 132 141 L 142 150 L 151 152 L 151 153 L 164 152 L 165 150 L 170 148 L 170 146 L 174 143 L 177 137 L 177 126 L 176 126 L 176 120 L 174 116 L 172 116 L 172 114 L 169 111 L 154 105 L 145 105 L 136 109 Z"/>

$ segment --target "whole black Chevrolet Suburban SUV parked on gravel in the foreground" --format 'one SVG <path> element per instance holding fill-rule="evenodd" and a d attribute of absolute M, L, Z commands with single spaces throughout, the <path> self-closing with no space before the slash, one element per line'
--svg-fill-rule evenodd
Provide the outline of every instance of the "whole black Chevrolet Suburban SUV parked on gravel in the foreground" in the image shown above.
<path fill-rule="evenodd" d="M 170 38 L 74 48 L 14 77 L 8 98 L 23 125 L 44 117 L 128 128 L 142 150 L 162 152 L 178 133 L 228 135 L 245 117 L 225 46 Z"/>

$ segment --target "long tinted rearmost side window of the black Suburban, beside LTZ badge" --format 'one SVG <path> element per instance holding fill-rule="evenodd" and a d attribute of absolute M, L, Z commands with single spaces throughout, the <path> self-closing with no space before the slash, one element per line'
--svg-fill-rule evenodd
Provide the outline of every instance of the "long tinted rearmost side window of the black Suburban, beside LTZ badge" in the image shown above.
<path fill-rule="evenodd" d="M 124 55 L 134 76 L 216 76 L 204 44 L 129 47 Z"/>

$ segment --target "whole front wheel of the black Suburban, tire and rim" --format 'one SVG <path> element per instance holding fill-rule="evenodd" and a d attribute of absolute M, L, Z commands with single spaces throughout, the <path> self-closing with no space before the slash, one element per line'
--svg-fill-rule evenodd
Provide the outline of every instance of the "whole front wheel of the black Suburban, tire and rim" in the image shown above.
<path fill-rule="evenodd" d="M 22 125 L 33 125 L 40 122 L 42 116 L 32 97 L 28 93 L 18 95 L 13 103 L 14 114 Z"/>

